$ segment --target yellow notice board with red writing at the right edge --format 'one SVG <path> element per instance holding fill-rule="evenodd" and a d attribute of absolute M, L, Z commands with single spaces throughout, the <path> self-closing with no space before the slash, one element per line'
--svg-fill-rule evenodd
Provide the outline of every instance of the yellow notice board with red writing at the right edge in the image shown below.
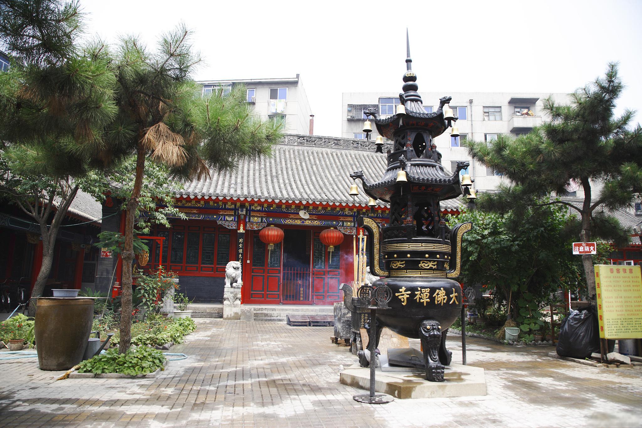
<path fill-rule="evenodd" d="M 600 338 L 642 338 L 640 266 L 595 265 Z"/>

